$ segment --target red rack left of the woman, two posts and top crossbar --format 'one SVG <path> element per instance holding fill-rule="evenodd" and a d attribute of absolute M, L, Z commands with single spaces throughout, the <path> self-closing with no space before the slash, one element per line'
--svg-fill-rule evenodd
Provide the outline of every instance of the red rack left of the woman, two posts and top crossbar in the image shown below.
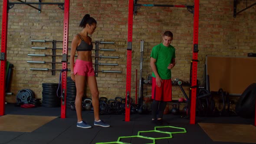
<path fill-rule="evenodd" d="M 69 43 L 69 0 L 64 3 L 30 3 L 30 2 L 9 2 L 3 0 L 3 14 L 2 14 L 2 38 L 1 38 L 1 68 L 0 68 L 0 115 L 5 112 L 5 75 L 7 66 L 7 28 L 8 28 L 8 10 L 14 7 L 14 4 L 26 4 L 41 13 L 42 4 L 59 5 L 59 8 L 64 10 L 63 20 L 63 48 L 62 48 L 62 101 L 61 101 L 61 118 L 66 118 L 66 83 L 67 83 L 67 65 L 68 65 L 68 43 Z M 32 6 L 38 4 L 38 8 Z"/>

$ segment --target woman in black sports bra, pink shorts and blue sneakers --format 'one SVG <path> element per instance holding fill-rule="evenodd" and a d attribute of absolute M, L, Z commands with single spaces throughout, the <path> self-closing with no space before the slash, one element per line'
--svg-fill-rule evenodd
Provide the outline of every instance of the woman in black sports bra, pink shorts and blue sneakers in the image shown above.
<path fill-rule="evenodd" d="M 99 118 L 99 100 L 98 100 L 98 86 L 95 78 L 94 69 L 92 66 L 92 38 L 88 35 L 92 35 L 97 26 L 97 22 L 94 18 L 86 14 L 79 27 L 82 27 L 80 33 L 76 34 L 71 44 L 70 54 L 70 74 L 71 79 L 75 82 L 76 97 L 75 97 L 75 109 L 77 115 L 77 124 L 79 128 L 91 128 L 92 126 L 87 124 L 82 119 L 82 97 L 84 95 L 85 82 L 88 84 L 91 95 L 92 105 L 94 110 L 94 125 L 102 127 L 110 127 L 104 121 Z M 74 63 L 75 52 L 77 52 L 77 59 Z"/>

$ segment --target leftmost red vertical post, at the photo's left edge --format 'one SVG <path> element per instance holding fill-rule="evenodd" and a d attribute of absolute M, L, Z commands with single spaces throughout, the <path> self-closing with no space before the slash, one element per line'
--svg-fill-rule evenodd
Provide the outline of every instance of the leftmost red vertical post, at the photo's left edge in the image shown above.
<path fill-rule="evenodd" d="M 7 52 L 7 26 L 8 26 L 8 0 L 3 0 L 2 14 L 2 38 L 1 38 L 1 53 L 0 53 L 0 115 L 5 112 L 5 75 L 6 75 L 6 52 Z"/>

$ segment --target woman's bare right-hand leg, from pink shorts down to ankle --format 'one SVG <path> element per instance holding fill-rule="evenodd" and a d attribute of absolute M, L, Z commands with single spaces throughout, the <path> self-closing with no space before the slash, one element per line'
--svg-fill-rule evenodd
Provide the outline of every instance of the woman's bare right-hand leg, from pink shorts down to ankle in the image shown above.
<path fill-rule="evenodd" d="M 96 81 L 95 76 L 89 76 L 87 77 L 87 84 L 90 88 L 91 95 L 92 95 L 92 106 L 93 106 L 93 112 L 94 112 L 94 119 L 95 121 L 100 120 L 99 119 L 99 101 L 98 101 L 98 85 Z"/>

